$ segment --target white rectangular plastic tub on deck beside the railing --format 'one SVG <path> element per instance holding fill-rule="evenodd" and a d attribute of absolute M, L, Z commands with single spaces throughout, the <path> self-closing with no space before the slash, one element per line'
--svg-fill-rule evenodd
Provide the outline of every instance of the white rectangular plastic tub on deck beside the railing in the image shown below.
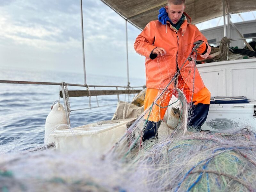
<path fill-rule="evenodd" d="M 115 124 L 88 124 L 68 130 L 56 130 L 50 136 L 55 138 L 56 149 L 62 152 L 85 150 L 89 153 L 103 153 L 124 135 L 126 124 L 126 121 Z"/>

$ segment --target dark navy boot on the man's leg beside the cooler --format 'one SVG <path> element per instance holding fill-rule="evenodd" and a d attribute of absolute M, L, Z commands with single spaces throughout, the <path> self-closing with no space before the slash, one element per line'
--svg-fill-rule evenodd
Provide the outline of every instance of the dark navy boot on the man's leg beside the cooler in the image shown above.
<path fill-rule="evenodd" d="M 208 112 L 209 112 L 210 105 L 198 103 L 197 105 L 194 105 L 194 103 L 191 106 L 189 117 L 188 117 L 188 126 L 194 127 L 198 131 L 201 130 L 201 126 L 206 121 Z"/>

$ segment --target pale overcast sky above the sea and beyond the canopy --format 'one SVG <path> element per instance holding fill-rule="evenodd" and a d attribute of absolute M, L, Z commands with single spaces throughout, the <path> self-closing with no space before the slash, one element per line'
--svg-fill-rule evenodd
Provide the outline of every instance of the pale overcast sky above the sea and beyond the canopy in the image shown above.
<path fill-rule="evenodd" d="M 125 20 L 100 0 L 84 0 L 83 14 L 86 72 L 126 76 Z M 242 19 L 234 15 L 232 21 Z M 128 23 L 130 76 L 145 78 L 145 58 L 133 50 L 139 33 Z M 80 0 L 0 0 L 0 65 L 83 73 Z"/>

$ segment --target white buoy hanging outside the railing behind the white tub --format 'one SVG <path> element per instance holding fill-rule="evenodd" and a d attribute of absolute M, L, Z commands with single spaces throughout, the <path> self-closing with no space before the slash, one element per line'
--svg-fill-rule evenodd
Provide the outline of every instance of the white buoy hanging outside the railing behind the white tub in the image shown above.
<path fill-rule="evenodd" d="M 44 144 L 54 142 L 53 137 L 49 137 L 55 130 L 68 129 L 68 121 L 65 113 L 65 109 L 60 102 L 56 103 L 52 107 L 52 111 L 46 118 L 45 130 L 44 130 Z"/>

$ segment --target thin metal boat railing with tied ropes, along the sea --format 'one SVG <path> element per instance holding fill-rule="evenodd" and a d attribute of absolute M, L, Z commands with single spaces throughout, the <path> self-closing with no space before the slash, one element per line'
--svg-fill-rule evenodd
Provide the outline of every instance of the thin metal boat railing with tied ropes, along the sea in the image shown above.
<path fill-rule="evenodd" d="M 120 94 L 136 94 L 142 91 L 145 86 L 115 86 L 115 85 L 87 85 L 87 84 L 70 84 L 70 83 L 56 83 L 56 82 L 38 82 L 38 81 L 11 81 L 11 80 L 0 80 L 2 84 L 37 84 L 37 85 L 60 85 L 60 98 L 63 98 L 65 113 L 68 121 L 68 125 L 70 126 L 70 112 L 71 111 L 78 111 L 78 110 L 85 110 L 85 109 L 92 109 L 92 108 L 100 108 L 100 107 L 107 107 L 112 106 L 113 104 L 108 105 L 99 105 L 97 96 L 100 95 L 117 95 L 117 101 L 120 101 L 119 95 Z M 68 90 L 68 86 L 76 86 L 76 87 L 85 87 L 86 90 Z M 108 90 L 96 90 L 96 88 L 112 88 Z M 113 89 L 115 88 L 115 89 Z M 89 100 L 89 107 L 88 108 L 79 108 L 79 109 L 72 109 L 70 108 L 69 98 L 70 97 L 96 97 L 97 106 L 91 106 L 91 99 Z M 115 103 L 116 104 L 116 103 Z"/>

